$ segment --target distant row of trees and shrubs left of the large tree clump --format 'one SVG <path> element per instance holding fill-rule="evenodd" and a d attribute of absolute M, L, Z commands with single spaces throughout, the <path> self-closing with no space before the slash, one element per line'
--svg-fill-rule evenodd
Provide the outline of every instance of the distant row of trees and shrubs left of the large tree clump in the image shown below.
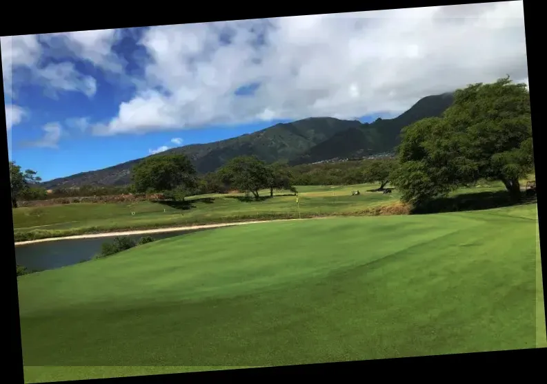
<path fill-rule="evenodd" d="M 10 163 L 10 171 L 18 180 L 27 180 L 23 188 L 12 188 L 12 206 L 17 200 L 47 200 L 128 193 L 163 193 L 166 198 L 180 200 L 188 195 L 228 193 L 233 190 L 259 198 L 261 189 L 272 196 L 276 190 L 297 193 L 296 185 L 349 185 L 379 182 L 381 188 L 388 182 L 395 160 L 360 160 L 328 164 L 304 164 L 289 167 L 284 162 L 266 164 L 252 156 L 233 158 L 216 172 L 197 175 L 191 162 L 184 156 L 168 155 L 146 158 L 132 170 L 132 184 L 128 186 L 90 186 L 59 188 L 46 191 L 38 181 L 31 180 L 19 166 Z"/>

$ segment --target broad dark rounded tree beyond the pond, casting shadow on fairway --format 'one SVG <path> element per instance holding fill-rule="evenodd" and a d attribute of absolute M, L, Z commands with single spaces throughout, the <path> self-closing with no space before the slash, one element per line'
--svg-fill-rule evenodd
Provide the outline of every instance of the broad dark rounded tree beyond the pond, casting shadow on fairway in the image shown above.
<path fill-rule="evenodd" d="M 137 193 L 172 191 L 195 186 L 195 168 L 183 154 L 145 158 L 132 169 L 133 189 Z"/>

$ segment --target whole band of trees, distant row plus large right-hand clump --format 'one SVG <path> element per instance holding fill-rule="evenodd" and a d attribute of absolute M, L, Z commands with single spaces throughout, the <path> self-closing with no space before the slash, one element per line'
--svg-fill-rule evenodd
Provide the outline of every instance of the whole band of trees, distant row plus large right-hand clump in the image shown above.
<path fill-rule="evenodd" d="M 130 186 L 81 186 L 46 193 L 36 172 L 10 162 L 12 205 L 17 200 L 163 193 L 183 200 L 188 195 L 237 190 L 259 199 L 259 191 L 297 193 L 297 185 L 341 185 L 388 182 L 412 206 L 426 204 L 478 180 L 503 182 L 511 198 L 521 196 L 519 179 L 534 169 L 530 94 L 526 85 L 509 77 L 477 83 L 455 92 L 441 117 L 424 118 L 401 131 L 395 158 L 303 164 L 266 164 L 252 156 L 229 160 L 221 169 L 197 175 L 183 154 L 146 158 L 132 169 Z"/>

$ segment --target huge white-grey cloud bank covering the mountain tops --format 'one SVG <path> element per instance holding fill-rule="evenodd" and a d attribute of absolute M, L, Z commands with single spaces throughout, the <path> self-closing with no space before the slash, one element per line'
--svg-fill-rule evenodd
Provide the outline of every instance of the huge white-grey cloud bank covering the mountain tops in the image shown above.
<path fill-rule="evenodd" d="M 165 25 L 140 44 L 147 88 L 97 134 L 397 114 L 469 83 L 528 78 L 521 1 Z"/>

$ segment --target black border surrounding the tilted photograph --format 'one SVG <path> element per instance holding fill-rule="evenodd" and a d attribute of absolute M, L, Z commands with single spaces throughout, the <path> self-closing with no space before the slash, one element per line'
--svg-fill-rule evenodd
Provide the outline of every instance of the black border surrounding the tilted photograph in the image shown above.
<path fill-rule="evenodd" d="M 144 25 L 165 25 L 165 24 L 180 24 L 180 23 L 197 23 L 203 21 L 220 21 L 220 20 L 236 20 L 236 19 L 258 19 L 263 17 L 282 17 L 282 16 L 296 16 L 301 14 L 320 14 L 320 13 L 337 13 L 337 12 L 355 12 L 363 10 L 379 10 L 379 9 L 389 9 L 389 8 L 416 8 L 416 7 L 425 7 L 425 6 L 446 6 L 453 4 L 465 4 L 465 3 L 486 3 L 490 1 L 378 1 L 377 3 L 369 3 L 365 5 L 362 3 L 362 6 L 342 6 L 340 3 L 337 3 L 337 6 L 318 6 L 316 3 L 314 7 L 298 7 L 297 3 L 290 3 L 290 8 L 287 8 L 286 11 L 282 10 L 266 10 L 259 11 L 259 6 L 262 4 L 257 4 L 254 8 L 246 5 L 242 10 L 237 10 L 235 8 L 235 3 L 218 3 L 215 4 L 214 9 L 211 7 L 205 8 L 203 12 L 198 12 L 197 8 L 194 8 L 197 4 L 181 4 L 180 12 L 165 12 L 164 8 L 157 6 L 157 8 L 150 8 L 149 5 L 143 7 L 143 12 L 138 10 L 135 13 L 131 14 L 128 21 L 120 21 L 118 15 L 125 15 L 128 12 L 123 9 L 123 5 L 120 4 L 121 8 L 119 12 L 115 12 L 114 7 L 103 6 L 101 3 L 72 3 L 70 8 L 60 6 L 56 8 L 52 3 L 36 3 L 36 5 L 30 6 L 32 9 L 28 9 L 29 5 L 26 4 L 17 4 L 11 3 L 10 8 L 4 8 L 8 12 L 4 13 L 5 21 L 12 21 L 14 24 L 2 25 L 1 36 L 17 35 L 17 34 L 37 34 L 37 33 L 47 33 L 47 32 L 61 32 L 61 31 L 70 31 L 70 30 L 97 30 L 97 29 L 106 29 L 106 28 L 128 28 Z M 533 17 L 532 17 L 532 4 L 530 0 L 523 0 L 524 2 L 524 15 L 526 21 L 526 46 L 527 46 L 527 57 L 528 57 L 528 78 L 530 78 L 530 72 L 539 71 L 532 70 L 532 63 L 541 63 L 539 61 L 538 54 L 532 50 L 533 45 Z M 112 3 L 110 3 L 112 4 Z M 105 4 L 106 5 L 106 4 Z M 192 6 L 192 13 L 185 12 L 189 10 Z M 268 6 L 268 4 L 265 4 Z M 25 12 L 19 11 L 19 9 Z M 82 6 L 79 8 L 78 6 Z M 133 6 L 137 6 L 137 3 L 133 3 Z M 47 8 L 46 8 L 47 7 Z M 140 7 L 139 7 L 140 8 Z M 79 9 L 82 9 L 80 11 Z M 72 11 L 74 10 L 74 11 Z M 17 12 L 19 11 L 19 12 Z M 49 12 L 48 12 L 49 11 Z M 38 15 L 37 17 L 34 14 Z M 72 14 L 72 16 L 70 16 Z M 76 14 L 75 17 L 73 15 Z M 177 14 L 173 16 L 173 14 Z M 181 16 L 179 16 L 179 14 Z M 21 19 L 28 17 L 28 23 L 19 23 Z M 77 17 L 85 15 L 86 19 L 77 19 Z M 16 24 L 17 23 L 17 24 Z M 24 25 L 24 26 L 23 26 Z M 536 58 L 536 60 L 532 60 Z M 539 65 L 538 65 L 539 66 Z M 1 71 L 1 67 L 0 67 Z M 537 76 L 537 72 L 534 72 L 534 76 Z M 539 88 L 539 77 L 534 77 L 534 84 Z M 4 98 L 3 89 L 1 90 L 2 98 Z M 5 100 L 5 99 L 4 99 Z M 530 98 L 530 103 L 531 103 Z M 539 104 L 536 101 L 535 106 L 539 108 Z M 1 112 L 2 121 L 0 124 L 5 125 L 6 116 L 5 111 Z M 536 129 L 533 129 L 533 141 L 535 142 L 534 153 L 535 159 L 539 159 L 539 130 L 541 129 L 539 113 L 533 115 L 533 122 L 535 122 Z M 8 169 L 8 147 L 7 147 L 7 131 L 6 129 L 0 129 L 1 140 L 6 142 L 6 146 L 2 146 L 0 149 L 2 156 L 4 158 L 3 177 L 4 180 L 9 180 L 9 169 Z M 536 161 L 536 164 L 539 163 L 539 160 Z M 538 173 L 542 173 L 541 167 L 536 169 L 536 178 Z M 543 180 L 543 175 L 539 176 L 539 185 L 541 191 L 541 180 Z M 6 184 L 3 184 L 4 188 L 1 191 L 1 201 L 3 215 L 1 217 L 6 220 L 6 225 L 13 228 L 13 217 L 12 209 L 10 203 L 10 188 L 6 187 Z M 540 193 L 540 192 L 538 192 Z M 541 200 L 541 199 L 540 199 Z M 543 216 L 543 204 L 538 204 L 538 214 L 539 217 Z M 547 215 L 547 214 L 546 214 Z M 540 237 L 543 231 L 541 231 L 542 226 L 539 225 Z M 5 234 L 6 235 L 6 234 Z M 14 234 L 12 231 L 8 231 L 8 243 L 14 244 Z M 5 238 L 6 239 L 6 238 Z M 12 273 L 15 269 L 15 255 L 14 255 L 14 246 L 8 246 L 8 257 L 2 260 L 5 265 L 3 268 L 0 268 L 2 273 L 1 281 L 7 282 L 7 288 L 4 288 L 6 291 L 6 299 L 4 301 L 3 307 L 6 309 L 9 317 L 9 328 L 5 329 L 6 336 L 9 339 L 8 343 L 8 356 L 12 360 L 7 362 L 7 368 L 3 369 L 2 375 L 6 378 L 9 378 L 10 383 L 23 383 L 23 359 L 22 359 L 22 350 L 21 350 L 21 326 L 19 323 L 19 300 L 17 293 L 17 277 Z M 545 259 L 541 257 L 542 265 L 545 265 Z M 544 268 L 542 268 L 545 270 Z M 545 273 L 542 274 L 544 287 L 545 284 Z M 547 295 L 544 295 L 544 303 L 547 303 Z M 547 306 L 547 305 L 546 305 Z M 6 345 L 5 343 L 3 343 Z M 456 377 L 477 377 L 477 372 L 484 372 L 486 374 L 485 378 L 498 378 L 507 376 L 508 372 L 515 371 L 522 377 L 522 373 L 526 372 L 531 375 L 532 372 L 538 372 L 538 369 L 541 367 L 540 361 L 546 361 L 545 357 L 547 356 L 547 348 L 533 348 L 527 350 L 511 350 L 511 351 L 499 351 L 499 352 L 477 352 L 469 354 L 452 354 L 452 355 L 441 355 L 441 356 L 421 356 L 421 357 L 406 357 L 400 359 L 382 359 L 382 360 L 371 360 L 371 361 L 350 361 L 344 363 L 321 363 L 321 364 L 312 364 L 312 365 L 292 365 L 286 367 L 268 367 L 268 368 L 248 368 L 244 370 L 226 370 L 226 371 L 212 371 L 212 372 L 190 372 L 183 374 L 160 374 L 155 376 L 132 376 L 132 377 L 122 377 L 122 378 L 104 378 L 104 379 L 92 379 L 81 382 L 99 382 L 99 383 L 172 383 L 173 381 L 189 380 L 200 378 L 212 378 L 212 379 L 228 379 L 228 380 L 237 380 L 238 378 L 256 378 L 261 375 L 300 375 L 300 374 L 344 374 L 344 376 L 351 376 L 351 374 L 357 374 L 359 378 L 373 378 L 380 374 L 381 378 L 384 379 L 389 374 L 401 373 L 401 374 L 412 374 L 415 377 L 423 378 L 437 378 L 442 379 L 446 378 L 448 372 L 450 371 L 451 378 Z M 437 376 L 437 372 L 441 375 Z M 473 372 L 473 373 L 472 373 Z M 390 375 L 391 376 L 391 375 Z M 535 375 L 534 375 L 535 376 Z M 355 376 L 354 376 L 355 377 Z M 406 376 L 408 378 L 408 376 Z M 478 377 L 477 377 L 478 378 Z M 63 381 L 58 383 L 76 383 L 80 381 Z"/>

